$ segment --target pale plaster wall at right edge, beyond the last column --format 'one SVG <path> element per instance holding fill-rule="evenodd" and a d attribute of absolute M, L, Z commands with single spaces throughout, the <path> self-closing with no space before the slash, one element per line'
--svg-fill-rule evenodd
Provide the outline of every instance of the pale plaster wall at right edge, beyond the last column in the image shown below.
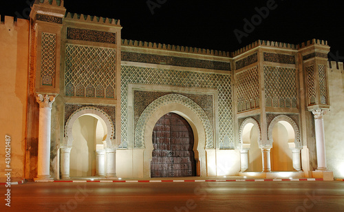
<path fill-rule="evenodd" d="M 344 72 L 343 63 L 339 65 L 337 70 L 332 63 L 327 71 L 331 107 L 324 116 L 327 168 L 334 178 L 344 178 Z"/>

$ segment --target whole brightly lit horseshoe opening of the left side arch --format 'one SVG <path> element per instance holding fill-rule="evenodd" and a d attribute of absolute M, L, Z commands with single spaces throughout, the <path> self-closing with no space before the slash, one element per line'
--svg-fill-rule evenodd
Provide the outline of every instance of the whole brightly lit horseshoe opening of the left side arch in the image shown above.
<path fill-rule="evenodd" d="M 74 140 L 70 152 L 70 176 L 96 176 L 100 168 L 96 162 L 96 153 L 104 151 L 104 141 L 107 137 L 107 128 L 103 119 L 94 114 L 78 117 L 73 123 L 72 135 Z M 104 165 L 105 162 L 101 164 Z"/>

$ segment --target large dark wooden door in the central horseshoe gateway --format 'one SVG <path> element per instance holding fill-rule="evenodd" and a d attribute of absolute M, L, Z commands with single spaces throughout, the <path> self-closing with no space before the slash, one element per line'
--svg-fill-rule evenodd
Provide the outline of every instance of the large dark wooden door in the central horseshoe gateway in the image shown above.
<path fill-rule="evenodd" d="M 162 116 L 152 137 L 151 178 L 196 176 L 193 131 L 182 116 Z"/>

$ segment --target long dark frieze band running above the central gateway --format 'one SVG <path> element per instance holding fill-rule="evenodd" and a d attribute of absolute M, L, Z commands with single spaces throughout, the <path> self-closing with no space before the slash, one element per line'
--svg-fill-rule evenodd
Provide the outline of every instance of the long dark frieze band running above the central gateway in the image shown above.
<path fill-rule="evenodd" d="M 220 61 L 206 61 L 200 59 L 182 58 L 178 56 L 163 56 L 136 52 L 122 52 L 121 56 L 122 61 L 230 71 L 230 63 Z"/>

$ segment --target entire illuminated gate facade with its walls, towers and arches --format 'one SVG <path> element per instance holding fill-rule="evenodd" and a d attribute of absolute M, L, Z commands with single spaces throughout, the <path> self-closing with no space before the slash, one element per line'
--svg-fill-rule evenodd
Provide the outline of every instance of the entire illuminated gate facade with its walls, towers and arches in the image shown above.
<path fill-rule="evenodd" d="M 326 41 L 218 52 L 121 29 L 56 0 L 5 17 L 13 178 L 344 178 L 343 64 Z"/>

